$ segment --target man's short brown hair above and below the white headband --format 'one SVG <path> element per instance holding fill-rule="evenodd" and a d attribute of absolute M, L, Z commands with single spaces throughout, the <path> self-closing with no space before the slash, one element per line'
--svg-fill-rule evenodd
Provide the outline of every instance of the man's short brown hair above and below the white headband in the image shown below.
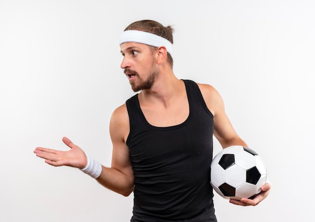
<path fill-rule="evenodd" d="M 124 31 L 127 30 L 137 30 L 143 32 L 149 32 L 158 36 L 161 36 L 167 40 L 169 40 L 173 44 L 173 32 L 174 29 L 171 26 L 163 26 L 161 23 L 152 21 L 152 20 L 141 20 L 134 23 L 131 23 Z M 153 47 L 153 46 L 151 46 Z M 153 47 L 154 49 L 156 47 Z M 168 53 L 168 62 L 170 63 L 171 67 L 173 68 L 173 58 Z"/>

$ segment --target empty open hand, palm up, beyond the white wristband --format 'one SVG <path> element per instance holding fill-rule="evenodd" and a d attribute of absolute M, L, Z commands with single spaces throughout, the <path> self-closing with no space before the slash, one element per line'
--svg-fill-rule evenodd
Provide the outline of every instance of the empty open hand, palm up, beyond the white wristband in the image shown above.
<path fill-rule="evenodd" d="M 68 151 L 52 150 L 37 147 L 34 150 L 36 156 L 45 159 L 45 162 L 52 166 L 71 166 L 83 169 L 87 166 L 87 156 L 84 151 L 74 145 L 68 138 L 63 137 L 62 141 L 71 148 Z"/>

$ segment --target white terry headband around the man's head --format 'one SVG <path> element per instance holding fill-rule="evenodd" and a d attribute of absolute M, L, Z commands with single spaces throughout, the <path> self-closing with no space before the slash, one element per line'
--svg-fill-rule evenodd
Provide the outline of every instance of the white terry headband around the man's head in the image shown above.
<path fill-rule="evenodd" d="M 172 43 L 169 40 L 152 33 L 137 30 L 127 30 L 122 33 L 119 40 L 119 45 L 125 42 L 137 42 L 154 47 L 164 46 L 168 53 L 172 55 Z"/>

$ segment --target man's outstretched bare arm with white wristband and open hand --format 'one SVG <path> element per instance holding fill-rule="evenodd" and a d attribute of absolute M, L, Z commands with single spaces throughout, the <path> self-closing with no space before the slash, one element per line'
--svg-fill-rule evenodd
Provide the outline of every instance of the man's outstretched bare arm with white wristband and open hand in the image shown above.
<path fill-rule="evenodd" d="M 114 111 L 110 122 L 110 134 L 113 143 L 111 167 L 101 166 L 94 159 L 88 158 L 80 147 L 73 144 L 66 137 L 62 138 L 62 141 L 70 150 L 61 151 L 37 147 L 34 153 L 36 156 L 45 159 L 45 162 L 52 166 L 79 168 L 93 178 L 97 177 L 96 180 L 108 189 L 128 196 L 134 189 L 134 183 L 129 149 L 125 142 L 129 134 L 129 117 L 126 104 Z M 96 169 L 94 168 L 95 166 Z M 99 171 L 101 171 L 101 174 L 99 174 Z"/>

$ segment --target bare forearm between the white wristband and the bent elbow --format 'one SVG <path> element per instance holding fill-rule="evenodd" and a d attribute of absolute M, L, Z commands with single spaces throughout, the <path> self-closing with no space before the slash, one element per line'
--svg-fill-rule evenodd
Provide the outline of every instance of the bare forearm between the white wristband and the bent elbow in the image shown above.
<path fill-rule="evenodd" d="M 102 173 L 96 180 L 104 187 L 123 196 L 129 196 L 134 189 L 133 176 L 128 176 L 114 168 L 102 166 Z"/>

